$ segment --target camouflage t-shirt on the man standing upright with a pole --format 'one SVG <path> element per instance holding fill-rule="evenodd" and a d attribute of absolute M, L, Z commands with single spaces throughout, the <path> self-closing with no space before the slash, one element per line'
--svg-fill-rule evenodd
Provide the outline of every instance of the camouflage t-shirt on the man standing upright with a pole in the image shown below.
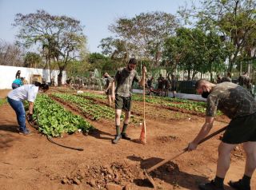
<path fill-rule="evenodd" d="M 118 94 L 120 97 L 130 97 L 133 82 L 138 82 L 139 80 L 136 70 L 129 71 L 126 68 L 118 69 L 114 77 L 116 83 L 115 94 Z"/>

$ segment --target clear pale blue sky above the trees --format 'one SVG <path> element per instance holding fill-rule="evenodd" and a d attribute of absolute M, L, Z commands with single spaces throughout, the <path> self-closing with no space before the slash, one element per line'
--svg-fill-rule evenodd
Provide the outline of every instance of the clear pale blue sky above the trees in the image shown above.
<path fill-rule="evenodd" d="M 148 11 L 176 14 L 190 0 L 0 0 L 0 39 L 14 42 L 18 29 L 11 26 L 14 15 L 46 10 L 81 21 L 90 52 L 101 52 L 98 45 L 111 33 L 108 26 L 120 17 L 132 18 Z"/>

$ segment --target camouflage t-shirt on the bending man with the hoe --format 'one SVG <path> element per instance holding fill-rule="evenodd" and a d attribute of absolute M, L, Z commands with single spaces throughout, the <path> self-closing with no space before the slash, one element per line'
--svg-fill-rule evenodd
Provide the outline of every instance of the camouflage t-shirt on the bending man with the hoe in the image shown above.
<path fill-rule="evenodd" d="M 207 97 L 206 116 L 214 117 L 217 109 L 230 119 L 243 117 L 256 112 L 256 101 L 240 85 L 222 82 Z"/>

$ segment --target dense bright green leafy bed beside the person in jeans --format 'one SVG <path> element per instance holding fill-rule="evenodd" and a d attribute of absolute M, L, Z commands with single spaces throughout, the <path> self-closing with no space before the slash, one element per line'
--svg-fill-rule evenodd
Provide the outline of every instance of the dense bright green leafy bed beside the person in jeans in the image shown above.
<path fill-rule="evenodd" d="M 94 129 L 88 121 L 67 111 L 47 95 L 37 97 L 34 104 L 34 117 L 38 118 L 39 132 L 47 136 L 59 137 L 62 133 L 74 133 L 78 129 L 88 133 Z"/>

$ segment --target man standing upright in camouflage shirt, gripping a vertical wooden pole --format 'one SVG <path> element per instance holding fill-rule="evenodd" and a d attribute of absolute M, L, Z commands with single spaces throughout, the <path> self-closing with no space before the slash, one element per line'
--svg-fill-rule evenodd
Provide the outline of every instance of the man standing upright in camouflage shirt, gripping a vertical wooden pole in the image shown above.
<path fill-rule="evenodd" d="M 131 93 L 133 82 L 136 81 L 139 85 L 145 85 L 146 67 L 142 68 L 142 79 L 139 80 L 138 73 L 135 70 L 137 60 L 130 58 L 128 65 L 125 68 L 118 69 L 115 75 L 113 88 L 112 88 L 112 99 L 115 100 L 115 127 L 116 136 L 112 143 L 117 144 L 118 141 L 123 138 L 130 140 L 130 137 L 126 134 L 127 125 L 130 119 L 130 108 L 131 108 Z M 116 85 L 116 88 L 114 88 Z M 125 111 L 125 119 L 122 127 L 122 133 L 120 132 L 120 117 L 122 110 Z"/>

